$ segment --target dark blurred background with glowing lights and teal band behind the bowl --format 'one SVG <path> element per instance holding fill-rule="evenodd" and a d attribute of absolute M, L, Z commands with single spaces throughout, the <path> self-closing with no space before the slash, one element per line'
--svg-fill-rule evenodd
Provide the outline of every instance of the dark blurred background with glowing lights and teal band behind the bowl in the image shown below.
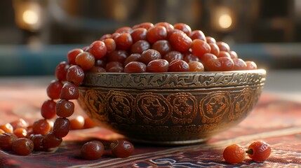
<path fill-rule="evenodd" d="M 300 0 L 12 0 L 0 6 L 0 76 L 53 75 L 69 50 L 140 22 L 185 22 L 259 68 L 301 69 Z"/>

